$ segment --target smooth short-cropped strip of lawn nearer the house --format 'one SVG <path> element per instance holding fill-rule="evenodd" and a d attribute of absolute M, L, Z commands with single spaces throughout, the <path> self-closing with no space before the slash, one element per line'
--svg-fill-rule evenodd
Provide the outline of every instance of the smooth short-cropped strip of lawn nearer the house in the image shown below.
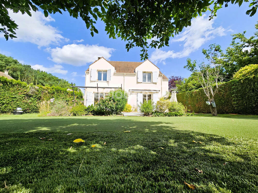
<path fill-rule="evenodd" d="M 200 132 L 230 137 L 258 138 L 258 116 L 197 114 L 189 117 L 38 117 L 37 114 L 0 116 L 0 133 L 32 131 Z"/>

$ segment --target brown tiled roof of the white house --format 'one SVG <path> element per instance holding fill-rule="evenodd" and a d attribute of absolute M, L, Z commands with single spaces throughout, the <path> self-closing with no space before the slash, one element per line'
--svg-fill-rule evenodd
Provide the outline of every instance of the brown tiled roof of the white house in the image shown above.
<path fill-rule="evenodd" d="M 109 62 L 112 66 L 115 67 L 115 70 L 117 73 L 134 73 L 135 68 L 140 66 L 140 64 L 142 64 L 142 62 L 123 62 L 123 61 L 108 61 L 108 60 L 107 62 Z M 87 69 L 87 71 L 88 70 L 89 68 Z M 162 73 L 159 71 L 159 74 L 162 74 Z M 168 80 L 168 78 L 164 74 L 163 74 L 163 79 Z"/>

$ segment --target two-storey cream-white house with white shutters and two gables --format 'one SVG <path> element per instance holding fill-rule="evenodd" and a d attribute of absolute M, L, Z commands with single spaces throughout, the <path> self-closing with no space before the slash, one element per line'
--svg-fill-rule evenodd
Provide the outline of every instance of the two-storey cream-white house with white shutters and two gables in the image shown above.
<path fill-rule="evenodd" d="M 168 78 L 149 60 L 120 62 L 101 57 L 85 71 L 85 87 L 85 106 L 94 104 L 113 89 L 100 87 L 122 87 L 128 93 L 128 104 L 139 110 L 140 102 L 157 102 L 168 92 Z"/>

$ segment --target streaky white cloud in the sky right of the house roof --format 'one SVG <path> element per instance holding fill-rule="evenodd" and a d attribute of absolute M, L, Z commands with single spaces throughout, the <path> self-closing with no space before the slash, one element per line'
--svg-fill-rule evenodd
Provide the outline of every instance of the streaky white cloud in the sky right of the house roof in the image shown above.
<path fill-rule="evenodd" d="M 171 42 L 183 42 L 183 50 L 175 52 L 174 50 L 162 51 L 156 49 L 152 52 L 150 60 L 157 63 L 167 58 L 187 57 L 192 52 L 198 50 L 207 41 L 217 36 L 225 36 L 226 31 L 231 31 L 224 29 L 222 26 L 214 28 L 214 21 L 215 19 L 209 21 L 209 18 L 206 17 L 205 14 L 192 19 L 192 25 L 171 40 Z"/>

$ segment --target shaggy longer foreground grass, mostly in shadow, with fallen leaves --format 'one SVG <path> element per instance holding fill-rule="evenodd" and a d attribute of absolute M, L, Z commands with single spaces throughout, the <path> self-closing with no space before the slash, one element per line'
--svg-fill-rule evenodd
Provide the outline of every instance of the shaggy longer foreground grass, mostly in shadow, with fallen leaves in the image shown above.
<path fill-rule="evenodd" d="M 195 192 L 257 190 L 257 141 L 177 132 L 0 134 L 0 192 L 190 192 L 184 181 Z"/>

